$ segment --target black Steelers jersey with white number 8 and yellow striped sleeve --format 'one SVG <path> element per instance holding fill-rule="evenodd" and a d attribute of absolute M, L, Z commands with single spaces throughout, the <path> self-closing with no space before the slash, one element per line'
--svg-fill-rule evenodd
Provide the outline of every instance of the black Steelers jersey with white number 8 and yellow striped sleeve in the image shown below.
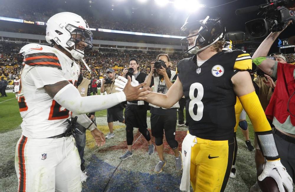
<path fill-rule="evenodd" d="M 236 95 L 231 78 L 251 67 L 250 55 L 241 50 L 218 52 L 200 67 L 196 55 L 178 62 L 191 135 L 210 140 L 233 137 Z"/>

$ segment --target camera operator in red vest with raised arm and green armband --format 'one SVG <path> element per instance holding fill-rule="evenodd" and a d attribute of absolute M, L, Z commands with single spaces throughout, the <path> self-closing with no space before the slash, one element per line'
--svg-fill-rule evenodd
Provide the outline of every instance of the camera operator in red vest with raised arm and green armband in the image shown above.
<path fill-rule="evenodd" d="M 285 166 L 294 183 L 295 97 L 293 96 L 295 93 L 295 66 L 266 58 L 271 45 L 281 32 L 272 32 L 269 34 L 255 51 L 252 59 L 266 74 L 277 78 L 276 88 L 265 113 L 268 118 L 273 120 L 273 125 L 275 126 L 273 131 L 274 139 L 281 163 Z M 289 38 L 288 42 L 289 44 L 295 45 L 295 37 Z"/>

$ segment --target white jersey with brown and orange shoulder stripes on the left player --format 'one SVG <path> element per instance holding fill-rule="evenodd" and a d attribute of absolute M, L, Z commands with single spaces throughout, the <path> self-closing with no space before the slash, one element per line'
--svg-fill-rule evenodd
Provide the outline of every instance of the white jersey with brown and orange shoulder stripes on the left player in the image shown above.
<path fill-rule="evenodd" d="M 65 132 L 71 112 L 43 87 L 64 80 L 76 86 L 79 73 L 80 66 L 53 47 L 39 45 L 25 53 L 18 97 L 22 135 L 40 139 Z"/>

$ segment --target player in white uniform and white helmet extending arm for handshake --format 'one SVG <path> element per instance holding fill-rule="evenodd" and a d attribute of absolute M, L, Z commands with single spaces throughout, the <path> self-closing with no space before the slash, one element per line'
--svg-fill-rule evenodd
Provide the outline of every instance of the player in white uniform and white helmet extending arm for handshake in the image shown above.
<path fill-rule="evenodd" d="M 19 191 L 81 191 L 80 158 L 73 137 L 66 132 L 68 119 L 91 131 L 96 145 L 104 134 L 85 115 L 126 100 L 143 100 L 147 89 L 126 86 L 111 95 L 81 97 L 75 85 L 84 50 L 91 48 L 92 32 L 81 16 L 63 12 L 47 21 L 45 45 L 24 49 L 20 78 L 19 111 L 22 136 L 15 151 Z M 84 62 L 84 61 L 83 61 Z M 85 64 L 85 62 L 84 62 Z"/>

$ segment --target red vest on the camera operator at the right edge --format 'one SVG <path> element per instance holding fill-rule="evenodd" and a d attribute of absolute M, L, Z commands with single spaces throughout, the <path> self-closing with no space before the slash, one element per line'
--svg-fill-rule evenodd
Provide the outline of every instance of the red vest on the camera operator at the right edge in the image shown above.
<path fill-rule="evenodd" d="M 295 117 L 290 114 L 295 115 L 295 95 L 289 102 L 288 111 L 288 101 L 295 91 L 294 69 L 295 65 L 278 63 L 276 88 L 265 114 L 271 120 L 276 117 L 280 123 L 284 123 L 290 115 L 291 123 L 295 126 Z"/>

